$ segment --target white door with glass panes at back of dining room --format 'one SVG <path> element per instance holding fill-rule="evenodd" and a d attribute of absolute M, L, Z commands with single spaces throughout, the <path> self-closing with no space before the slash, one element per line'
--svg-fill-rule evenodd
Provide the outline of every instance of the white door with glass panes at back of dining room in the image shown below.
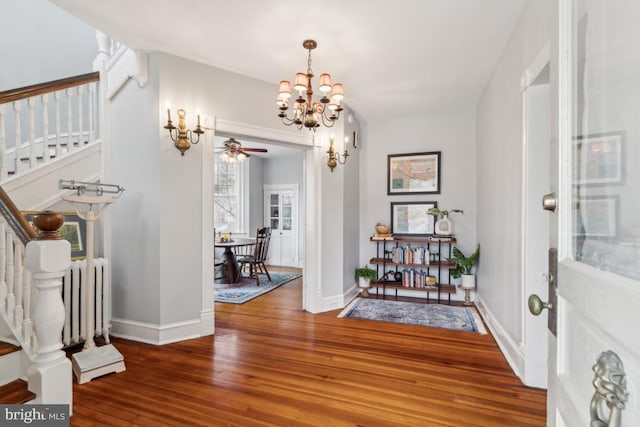
<path fill-rule="evenodd" d="M 265 223 L 271 227 L 268 264 L 298 266 L 297 185 L 265 185 Z"/>

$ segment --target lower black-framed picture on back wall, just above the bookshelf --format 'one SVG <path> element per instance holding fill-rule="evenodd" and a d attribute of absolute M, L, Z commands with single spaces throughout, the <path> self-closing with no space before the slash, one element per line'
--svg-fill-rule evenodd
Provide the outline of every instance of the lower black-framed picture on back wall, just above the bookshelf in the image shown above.
<path fill-rule="evenodd" d="M 435 217 L 427 213 L 437 202 L 391 202 L 391 232 L 404 236 L 430 236 Z"/>

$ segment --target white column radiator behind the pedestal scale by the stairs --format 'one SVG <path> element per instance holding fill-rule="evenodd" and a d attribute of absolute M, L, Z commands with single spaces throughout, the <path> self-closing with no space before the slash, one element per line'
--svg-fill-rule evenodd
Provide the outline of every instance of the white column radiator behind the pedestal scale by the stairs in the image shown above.
<path fill-rule="evenodd" d="M 62 344 L 69 347 L 87 338 L 87 261 L 72 261 L 62 280 L 62 299 L 64 301 L 65 319 L 62 330 Z M 109 262 L 105 258 L 95 258 L 94 281 L 94 338 L 103 336 L 109 343 L 111 327 L 111 280 Z"/>

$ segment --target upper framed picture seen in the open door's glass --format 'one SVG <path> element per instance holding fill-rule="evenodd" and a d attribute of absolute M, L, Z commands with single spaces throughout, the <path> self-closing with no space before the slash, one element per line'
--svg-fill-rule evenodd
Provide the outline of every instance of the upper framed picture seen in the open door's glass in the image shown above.
<path fill-rule="evenodd" d="M 623 132 L 575 139 L 573 184 L 619 184 L 623 181 Z"/>

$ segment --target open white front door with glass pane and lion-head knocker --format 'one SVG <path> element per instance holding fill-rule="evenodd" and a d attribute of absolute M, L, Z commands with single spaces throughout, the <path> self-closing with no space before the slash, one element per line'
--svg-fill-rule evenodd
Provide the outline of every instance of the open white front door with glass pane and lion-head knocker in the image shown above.
<path fill-rule="evenodd" d="M 639 426 L 640 2 L 560 4 L 548 424 Z"/>

